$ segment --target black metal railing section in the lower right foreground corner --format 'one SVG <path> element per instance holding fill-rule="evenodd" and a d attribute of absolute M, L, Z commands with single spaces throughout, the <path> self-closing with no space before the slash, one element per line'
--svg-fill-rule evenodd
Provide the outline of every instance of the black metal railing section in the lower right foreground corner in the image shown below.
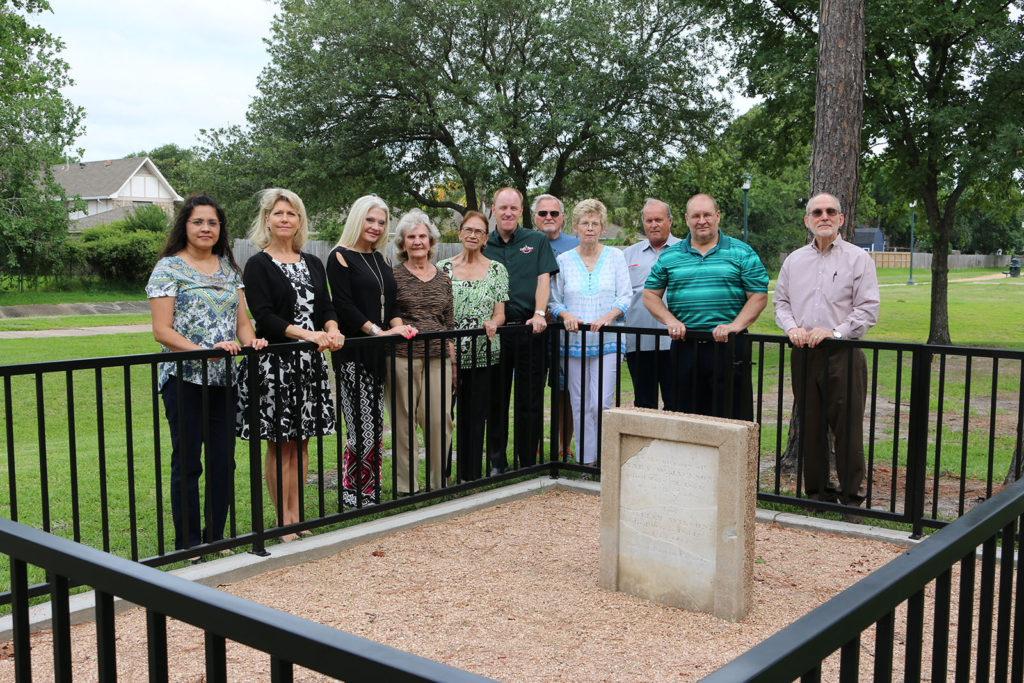
<path fill-rule="evenodd" d="M 1022 680 L 1022 518 L 1018 481 L 703 680 Z"/>

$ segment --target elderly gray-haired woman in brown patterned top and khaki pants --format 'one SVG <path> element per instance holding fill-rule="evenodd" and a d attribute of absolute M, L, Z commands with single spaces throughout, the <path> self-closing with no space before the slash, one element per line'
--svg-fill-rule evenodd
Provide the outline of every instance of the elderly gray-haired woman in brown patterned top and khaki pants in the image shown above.
<path fill-rule="evenodd" d="M 439 240 L 437 228 L 427 214 L 418 209 L 406 213 L 395 227 L 398 264 L 394 266 L 394 280 L 398 289 L 398 315 L 421 335 L 455 328 L 452 281 L 431 263 Z M 431 489 L 443 485 L 443 460 L 452 439 L 455 346 L 451 341 L 426 343 L 414 339 L 412 358 L 409 346 L 399 342 L 393 371 L 390 364 L 388 367 L 388 389 L 395 407 L 391 433 L 395 444 L 398 495 L 414 494 L 419 488 L 417 470 L 410 472 L 410 464 L 416 467 L 418 462 L 416 434 L 410 434 L 413 431 L 411 420 L 423 430 L 427 441 L 427 481 Z"/>

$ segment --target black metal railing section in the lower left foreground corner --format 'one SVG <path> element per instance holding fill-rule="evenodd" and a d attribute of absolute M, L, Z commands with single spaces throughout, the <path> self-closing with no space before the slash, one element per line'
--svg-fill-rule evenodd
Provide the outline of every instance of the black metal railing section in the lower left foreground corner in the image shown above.
<path fill-rule="evenodd" d="M 206 680 L 248 678 L 231 672 L 225 645 L 233 641 L 264 652 L 275 681 L 292 680 L 294 668 L 345 681 L 484 681 L 475 674 L 449 667 L 387 645 L 333 629 L 195 584 L 67 539 L 0 518 L 0 549 L 9 556 L 12 583 L 14 680 L 33 679 L 29 624 L 28 567 L 50 577 L 53 624 L 53 680 L 71 681 L 72 627 L 69 587 L 89 586 L 95 595 L 96 669 L 77 672 L 110 681 L 118 677 L 115 598 L 146 610 L 148 679 L 167 681 L 173 671 L 168 656 L 167 620 L 190 624 L 203 632 Z M 173 652 L 171 653 L 173 656 Z M 189 657 L 194 656 L 189 654 Z M 80 657 L 81 658 L 81 657 Z"/>

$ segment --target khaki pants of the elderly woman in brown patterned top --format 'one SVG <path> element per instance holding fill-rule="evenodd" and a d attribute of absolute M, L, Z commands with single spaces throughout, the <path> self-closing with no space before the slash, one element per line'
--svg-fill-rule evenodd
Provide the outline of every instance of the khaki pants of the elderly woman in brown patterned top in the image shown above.
<path fill-rule="evenodd" d="M 441 364 L 444 366 L 444 386 L 441 386 Z M 423 430 L 427 450 L 427 474 L 430 488 L 440 488 L 443 481 L 444 458 L 452 442 L 452 366 L 447 358 L 413 358 L 412 372 L 409 359 L 395 358 L 394 376 L 388 369 L 387 390 L 394 396 L 394 415 L 391 416 L 391 435 L 394 439 L 395 475 L 397 494 L 416 493 L 417 476 L 416 434 L 410 439 L 411 421 Z M 429 374 L 429 395 L 428 395 Z M 412 391 L 410 391 L 412 378 Z M 413 474 L 410 476 L 410 454 L 413 454 Z"/>

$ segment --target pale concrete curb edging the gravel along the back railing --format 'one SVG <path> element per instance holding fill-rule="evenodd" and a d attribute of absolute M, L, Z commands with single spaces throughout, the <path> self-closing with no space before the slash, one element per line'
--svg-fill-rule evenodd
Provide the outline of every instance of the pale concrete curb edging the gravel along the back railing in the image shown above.
<path fill-rule="evenodd" d="M 198 584 L 216 588 L 249 579 L 260 573 L 283 569 L 305 562 L 323 559 L 345 548 L 366 543 L 374 539 L 401 531 L 404 529 L 444 521 L 459 517 L 468 512 L 482 510 L 503 503 L 510 503 L 552 488 L 562 488 L 577 493 L 599 496 L 601 484 L 597 481 L 580 479 L 553 479 L 550 477 L 529 479 L 508 486 L 500 486 L 492 490 L 473 494 L 455 501 L 438 503 L 418 510 L 402 512 L 390 517 L 375 519 L 347 528 L 329 531 L 291 543 L 280 544 L 268 548 L 269 555 L 257 557 L 250 553 L 239 553 L 230 557 L 222 557 L 194 566 L 174 569 L 174 573 L 182 579 L 188 579 Z M 757 521 L 775 523 L 790 528 L 809 531 L 836 533 L 858 539 L 869 539 L 909 547 L 920 543 L 907 537 L 905 531 L 879 528 L 862 524 L 852 524 L 843 521 L 803 517 L 787 512 L 758 510 Z M 71 596 L 71 623 L 84 624 L 95 620 L 95 596 L 92 591 Z M 133 609 L 137 605 L 126 600 L 115 599 L 116 612 Z M 29 623 L 33 633 L 52 628 L 49 602 L 38 604 L 29 609 Z M 10 614 L 0 616 L 0 642 L 13 637 L 13 622 Z"/>

